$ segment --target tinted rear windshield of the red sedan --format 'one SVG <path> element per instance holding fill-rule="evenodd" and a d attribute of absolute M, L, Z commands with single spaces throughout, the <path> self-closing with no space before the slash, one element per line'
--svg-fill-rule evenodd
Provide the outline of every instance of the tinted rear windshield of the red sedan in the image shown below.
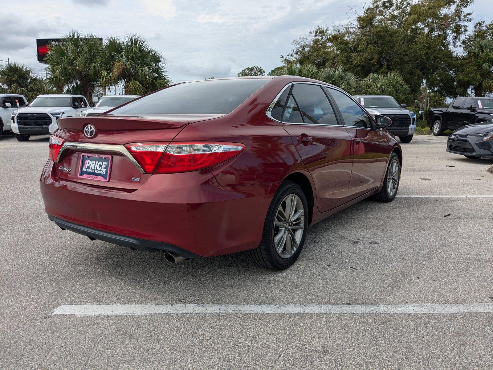
<path fill-rule="evenodd" d="M 119 114 L 227 114 L 268 79 L 222 79 L 170 86 L 107 113 Z"/>

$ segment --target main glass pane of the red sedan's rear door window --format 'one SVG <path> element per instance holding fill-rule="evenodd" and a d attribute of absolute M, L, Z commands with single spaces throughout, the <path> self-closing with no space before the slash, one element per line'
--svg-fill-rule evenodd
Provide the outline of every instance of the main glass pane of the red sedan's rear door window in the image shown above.
<path fill-rule="evenodd" d="M 291 94 L 298 103 L 305 123 L 337 125 L 334 110 L 320 86 L 297 83 Z"/>

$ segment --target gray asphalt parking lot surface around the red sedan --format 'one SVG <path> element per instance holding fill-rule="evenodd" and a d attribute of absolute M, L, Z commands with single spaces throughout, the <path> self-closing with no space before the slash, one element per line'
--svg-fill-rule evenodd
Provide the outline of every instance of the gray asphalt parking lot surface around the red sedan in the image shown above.
<path fill-rule="evenodd" d="M 172 265 L 62 231 L 39 193 L 48 137 L 3 137 L 1 368 L 491 369 L 491 312 L 52 314 L 64 304 L 493 305 L 492 161 L 447 153 L 446 139 L 402 144 L 400 197 L 314 225 L 298 261 L 276 272 L 247 253 Z"/>

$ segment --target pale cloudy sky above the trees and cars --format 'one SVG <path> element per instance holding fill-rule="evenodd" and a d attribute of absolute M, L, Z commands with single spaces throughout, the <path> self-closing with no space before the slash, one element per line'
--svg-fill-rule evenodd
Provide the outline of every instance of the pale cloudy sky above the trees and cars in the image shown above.
<path fill-rule="evenodd" d="M 369 3 L 370 1 L 366 1 Z M 291 41 L 317 25 L 348 19 L 359 0 L 23 0 L 2 6 L 0 59 L 43 72 L 36 38 L 70 30 L 110 35 L 140 34 L 167 60 L 174 82 L 234 76 L 259 65 L 281 65 Z M 493 18 L 491 0 L 476 0 L 474 20 Z M 3 62 L 0 62 L 3 63 Z"/>

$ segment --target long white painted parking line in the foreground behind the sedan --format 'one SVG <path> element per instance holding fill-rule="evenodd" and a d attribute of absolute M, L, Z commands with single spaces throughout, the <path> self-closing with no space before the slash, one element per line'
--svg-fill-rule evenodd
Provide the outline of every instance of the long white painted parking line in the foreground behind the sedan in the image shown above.
<path fill-rule="evenodd" d="M 451 304 L 64 304 L 53 315 L 493 313 L 493 303 Z"/>

